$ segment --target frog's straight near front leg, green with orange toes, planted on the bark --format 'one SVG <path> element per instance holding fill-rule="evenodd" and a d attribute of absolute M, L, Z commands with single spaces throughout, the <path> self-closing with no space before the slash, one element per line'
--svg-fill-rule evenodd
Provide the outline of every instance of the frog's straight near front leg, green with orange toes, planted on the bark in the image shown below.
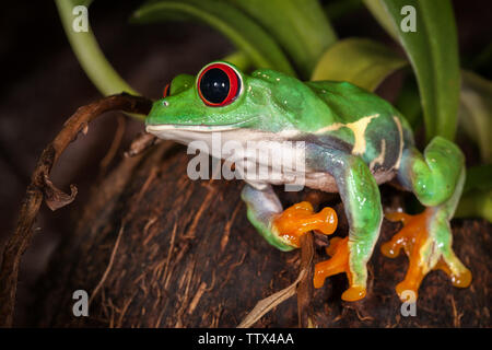
<path fill-rule="evenodd" d="M 331 240 L 327 249 L 331 258 L 316 264 L 314 284 L 320 288 L 327 277 L 345 272 L 350 288 L 341 298 L 356 301 L 366 293 L 366 264 L 383 221 L 379 188 L 360 156 L 317 147 L 309 154 L 314 156 L 309 166 L 324 164 L 324 171 L 333 176 L 350 225 L 348 237 Z"/>

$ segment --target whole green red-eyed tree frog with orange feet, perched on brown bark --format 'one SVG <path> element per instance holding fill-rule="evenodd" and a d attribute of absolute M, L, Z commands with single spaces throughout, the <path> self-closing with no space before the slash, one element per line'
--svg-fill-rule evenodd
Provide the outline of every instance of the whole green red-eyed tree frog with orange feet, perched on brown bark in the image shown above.
<path fill-rule="evenodd" d="M 247 75 L 215 61 L 196 77 L 176 77 L 145 124 L 148 132 L 185 144 L 210 142 L 213 132 L 238 142 L 303 141 L 305 185 L 339 192 L 350 225 L 347 237 L 331 240 L 331 258 L 315 266 L 316 288 L 344 272 L 349 289 L 342 299 L 365 296 L 366 264 L 383 221 L 378 184 L 395 177 L 426 207 L 418 215 L 386 215 L 402 221 L 403 229 L 383 245 L 383 254 L 395 257 L 403 249 L 410 260 L 397 293 L 402 298 L 409 290 L 417 296 L 421 281 L 435 268 L 456 287 L 471 282 L 470 271 L 453 252 L 449 228 L 465 180 L 461 151 L 435 137 L 422 154 L 405 117 L 371 92 L 348 82 L 302 82 L 269 69 Z M 253 153 L 245 156 L 247 163 L 258 162 Z M 331 234 L 337 224 L 330 208 L 314 213 L 308 202 L 301 202 L 283 210 L 271 185 L 290 178 L 246 179 L 242 191 L 249 221 L 281 250 L 297 248 L 300 236 L 312 230 Z"/>

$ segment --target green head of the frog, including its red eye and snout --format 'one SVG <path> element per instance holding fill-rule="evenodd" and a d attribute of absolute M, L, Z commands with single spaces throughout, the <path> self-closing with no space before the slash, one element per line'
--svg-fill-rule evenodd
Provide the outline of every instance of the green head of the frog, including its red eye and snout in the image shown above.
<path fill-rule="evenodd" d="M 302 118 L 309 118 L 308 110 L 314 110 L 309 103 L 317 100 L 295 78 L 272 70 L 257 70 L 249 77 L 231 63 L 215 61 L 196 77 L 173 79 L 145 125 L 148 132 L 185 143 L 197 132 L 249 129 L 278 136 L 305 129 Z"/>

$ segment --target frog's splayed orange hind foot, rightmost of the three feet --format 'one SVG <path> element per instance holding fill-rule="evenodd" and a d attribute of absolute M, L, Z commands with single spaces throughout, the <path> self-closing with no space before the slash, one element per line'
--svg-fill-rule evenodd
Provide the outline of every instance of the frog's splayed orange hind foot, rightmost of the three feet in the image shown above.
<path fill-rule="evenodd" d="M 396 287 L 402 301 L 407 300 L 408 291 L 417 300 L 419 287 L 431 270 L 441 269 L 446 272 L 455 287 L 466 288 L 471 283 L 471 272 L 455 256 L 450 246 L 444 247 L 444 244 L 440 244 L 430 234 L 427 223 L 432 220 L 432 214 L 433 211 L 429 208 L 418 215 L 399 212 L 386 214 L 386 219 L 403 223 L 400 232 L 382 246 L 382 253 L 387 257 L 397 257 L 403 249 L 409 258 L 407 275 Z"/>

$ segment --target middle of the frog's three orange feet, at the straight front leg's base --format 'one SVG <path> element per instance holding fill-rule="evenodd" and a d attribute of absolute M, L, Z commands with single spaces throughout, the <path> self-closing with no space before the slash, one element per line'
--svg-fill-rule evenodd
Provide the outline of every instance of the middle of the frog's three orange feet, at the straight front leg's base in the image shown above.
<path fill-rule="evenodd" d="M 330 241 L 330 246 L 326 253 L 331 256 L 330 259 L 316 264 L 314 273 L 314 287 L 321 288 L 327 277 L 347 273 L 350 288 L 343 292 L 342 300 L 353 302 L 365 296 L 365 287 L 352 284 L 352 275 L 349 268 L 349 237 L 335 237 Z"/>

